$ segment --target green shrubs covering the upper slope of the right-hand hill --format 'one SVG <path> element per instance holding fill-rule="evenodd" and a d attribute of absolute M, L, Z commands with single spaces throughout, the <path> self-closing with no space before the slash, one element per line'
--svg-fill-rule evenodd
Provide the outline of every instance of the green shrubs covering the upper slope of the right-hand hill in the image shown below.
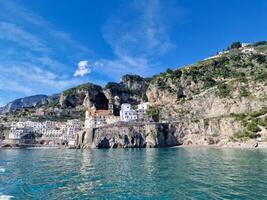
<path fill-rule="evenodd" d="M 151 79 L 151 84 L 156 85 L 160 90 L 173 94 L 177 93 L 179 88 L 187 87 L 188 84 L 194 85 L 193 90 L 191 90 L 193 94 L 199 94 L 206 89 L 217 87 L 218 96 L 228 97 L 233 90 L 230 87 L 232 83 L 242 82 L 249 84 L 251 80 L 257 82 L 267 81 L 267 56 L 262 54 L 267 52 L 266 43 L 256 43 L 257 48 L 261 48 L 261 50 L 256 50 L 257 53 L 250 55 L 244 54 L 239 50 L 239 47 L 241 47 L 240 42 L 234 42 L 229 47 L 229 52 L 185 68 L 167 69 L 166 72 L 154 76 Z M 250 92 L 242 89 L 240 90 L 240 96 L 248 97 Z"/>

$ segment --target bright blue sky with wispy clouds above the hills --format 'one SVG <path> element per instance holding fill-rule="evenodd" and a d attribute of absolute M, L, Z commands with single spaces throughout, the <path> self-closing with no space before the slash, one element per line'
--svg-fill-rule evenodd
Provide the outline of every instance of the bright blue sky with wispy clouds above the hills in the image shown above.
<path fill-rule="evenodd" d="M 266 40 L 266 0 L 0 0 L 0 105 Z"/>

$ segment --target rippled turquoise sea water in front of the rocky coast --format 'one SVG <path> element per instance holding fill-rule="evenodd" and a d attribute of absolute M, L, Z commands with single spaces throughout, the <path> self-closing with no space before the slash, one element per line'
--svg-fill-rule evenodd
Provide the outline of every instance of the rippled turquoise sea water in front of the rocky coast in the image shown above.
<path fill-rule="evenodd" d="M 267 150 L 0 150 L 0 199 L 10 196 L 267 199 Z"/>

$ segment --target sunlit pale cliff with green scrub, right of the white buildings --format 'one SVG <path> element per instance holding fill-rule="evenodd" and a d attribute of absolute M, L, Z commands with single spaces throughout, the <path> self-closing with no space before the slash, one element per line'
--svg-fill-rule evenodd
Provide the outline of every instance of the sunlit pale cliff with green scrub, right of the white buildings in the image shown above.
<path fill-rule="evenodd" d="M 267 45 L 252 47 L 250 54 L 232 49 L 151 80 L 148 100 L 160 120 L 179 124 L 181 143 L 267 139 Z"/>

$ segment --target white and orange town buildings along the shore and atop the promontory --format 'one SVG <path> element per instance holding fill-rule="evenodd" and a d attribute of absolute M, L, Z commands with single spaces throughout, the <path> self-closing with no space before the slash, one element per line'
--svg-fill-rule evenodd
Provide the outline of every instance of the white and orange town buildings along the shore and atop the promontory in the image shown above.
<path fill-rule="evenodd" d="M 97 128 L 117 122 L 129 122 L 144 120 L 145 112 L 150 103 L 145 102 L 136 106 L 134 109 L 131 104 L 124 103 L 120 106 L 119 112 L 115 112 L 113 101 L 110 100 L 107 110 L 97 109 L 94 105 L 85 112 L 85 121 L 78 119 L 68 120 L 66 122 L 45 121 L 16 122 L 11 125 L 9 139 L 20 140 L 30 135 L 39 135 L 41 138 L 54 138 L 73 141 L 75 135 L 83 128 Z M 38 110 L 41 112 L 41 110 Z M 40 113 L 42 114 L 42 113 Z"/>

